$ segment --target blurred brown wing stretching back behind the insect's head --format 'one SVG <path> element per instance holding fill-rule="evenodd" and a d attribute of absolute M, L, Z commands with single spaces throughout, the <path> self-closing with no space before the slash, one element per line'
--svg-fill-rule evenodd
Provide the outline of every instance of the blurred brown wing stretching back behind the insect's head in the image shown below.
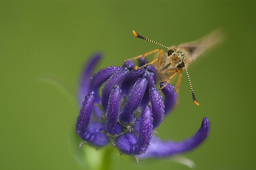
<path fill-rule="evenodd" d="M 189 65 L 200 54 L 209 48 L 217 45 L 223 40 L 223 33 L 220 29 L 211 32 L 200 40 L 180 44 L 179 47 L 186 53 L 186 63 Z"/>

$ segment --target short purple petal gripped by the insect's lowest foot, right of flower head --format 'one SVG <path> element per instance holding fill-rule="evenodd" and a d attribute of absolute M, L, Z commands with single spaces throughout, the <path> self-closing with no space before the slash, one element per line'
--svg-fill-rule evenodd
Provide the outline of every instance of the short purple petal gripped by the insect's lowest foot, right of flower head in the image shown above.
<path fill-rule="evenodd" d="M 166 82 L 160 82 L 160 87 L 163 87 L 163 85 Z M 164 111 L 165 111 L 165 115 L 168 114 L 169 111 L 172 110 L 172 108 L 175 106 L 176 104 L 176 99 L 177 99 L 177 94 L 174 91 L 174 86 L 167 84 L 163 89 L 162 92 L 165 96 L 165 101 L 164 101 Z"/>

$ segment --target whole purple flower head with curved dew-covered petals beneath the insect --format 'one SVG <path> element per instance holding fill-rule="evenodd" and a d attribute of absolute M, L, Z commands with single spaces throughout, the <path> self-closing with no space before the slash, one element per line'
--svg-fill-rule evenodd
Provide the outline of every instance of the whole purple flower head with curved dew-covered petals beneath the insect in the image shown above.
<path fill-rule="evenodd" d="M 209 131 L 207 118 L 194 136 L 180 142 L 162 141 L 153 135 L 153 130 L 175 106 L 174 87 L 168 84 L 163 88 L 163 102 L 155 87 L 155 68 L 148 65 L 135 70 L 131 60 L 123 67 L 101 69 L 91 77 L 100 58 L 100 54 L 91 57 L 81 74 L 78 96 L 82 105 L 76 121 L 80 139 L 96 146 L 111 142 L 122 153 L 140 158 L 172 156 L 192 150 L 204 141 Z M 100 96 L 99 88 L 104 82 Z"/>

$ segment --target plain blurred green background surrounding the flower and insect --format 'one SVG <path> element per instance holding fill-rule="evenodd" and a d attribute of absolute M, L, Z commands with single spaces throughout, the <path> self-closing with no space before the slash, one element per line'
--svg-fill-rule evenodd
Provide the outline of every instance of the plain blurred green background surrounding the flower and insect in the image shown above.
<path fill-rule="evenodd" d="M 77 82 L 90 55 L 103 53 L 97 71 L 159 48 L 132 30 L 170 46 L 216 28 L 226 41 L 189 65 L 200 106 L 193 104 L 183 73 L 180 104 L 158 136 L 187 138 L 208 117 L 209 137 L 183 156 L 198 170 L 255 169 L 255 9 L 255 1 L 231 0 L 1 1 L 0 169 L 92 169 L 74 132 Z M 84 148 L 91 164 L 106 150 Z M 190 169 L 169 159 L 137 164 L 111 148 L 105 162 L 113 170 Z"/>

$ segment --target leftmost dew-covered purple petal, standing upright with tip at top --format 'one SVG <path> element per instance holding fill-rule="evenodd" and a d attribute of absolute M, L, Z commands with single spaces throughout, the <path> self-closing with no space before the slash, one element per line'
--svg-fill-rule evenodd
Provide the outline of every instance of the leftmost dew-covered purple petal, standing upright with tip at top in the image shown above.
<path fill-rule="evenodd" d="M 76 134 L 84 140 L 84 132 L 88 129 L 90 116 L 93 110 L 95 93 L 92 91 L 85 96 L 83 105 L 76 120 Z"/>

